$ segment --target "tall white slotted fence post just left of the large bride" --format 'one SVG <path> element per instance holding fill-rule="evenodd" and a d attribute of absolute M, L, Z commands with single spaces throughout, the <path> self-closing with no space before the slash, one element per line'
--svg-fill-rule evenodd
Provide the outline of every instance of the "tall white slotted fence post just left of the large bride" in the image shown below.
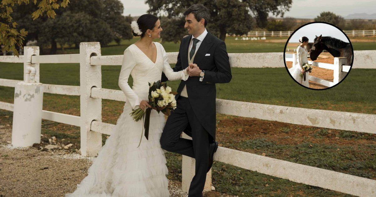
<path fill-rule="evenodd" d="M 97 156 L 102 134 L 91 131 L 93 120 L 102 122 L 102 99 L 91 98 L 91 88 L 102 88 L 101 65 L 90 65 L 91 56 L 101 56 L 99 42 L 80 43 L 80 136 L 81 155 Z"/>

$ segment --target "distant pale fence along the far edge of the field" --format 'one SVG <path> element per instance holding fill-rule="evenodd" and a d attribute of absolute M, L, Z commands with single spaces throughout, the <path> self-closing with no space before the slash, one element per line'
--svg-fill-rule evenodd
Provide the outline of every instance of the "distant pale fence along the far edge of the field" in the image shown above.
<path fill-rule="evenodd" d="M 268 37 L 288 37 L 294 31 L 251 31 L 246 34 L 247 36 L 268 36 Z M 347 36 L 375 36 L 376 30 L 344 30 Z M 230 36 L 227 34 L 227 36 Z M 232 36 L 240 36 L 240 35 L 232 35 Z"/>

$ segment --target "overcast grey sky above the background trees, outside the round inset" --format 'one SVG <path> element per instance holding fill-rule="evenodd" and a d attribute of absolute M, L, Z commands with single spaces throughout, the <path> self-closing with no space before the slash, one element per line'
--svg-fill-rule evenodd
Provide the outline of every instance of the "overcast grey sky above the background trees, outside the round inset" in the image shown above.
<path fill-rule="evenodd" d="M 140 16 L 146 14 L 149 6 L 145 0 L 120 0 L 124 5 L 124 15 Z M 376 11 L 375 0 L 293 0 L 290 11 L 285 17 L 315 18 L 320 12 L 331 11 L 346 17 L 348 14 L 367 13 Z"/>

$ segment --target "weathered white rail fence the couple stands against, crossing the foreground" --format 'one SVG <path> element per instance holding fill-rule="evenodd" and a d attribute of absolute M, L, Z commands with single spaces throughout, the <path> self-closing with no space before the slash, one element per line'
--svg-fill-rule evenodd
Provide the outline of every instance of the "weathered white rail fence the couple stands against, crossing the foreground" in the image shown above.
<path fill-rule="evenodd" d="M 33 56 L 3 56 L 0 62 L 26 63 L 39 71 L 39 63 L 80 63 L 80 86 L 43 84 L 44 92 L 61 95 L 80 95 L 80 116 L 42 111 L 42 118 L 69 125 L 80 126 L 81 153 L 96 156 L 102 146 L 101 134 L 111 134 L 115 125 L 102 122 L 102 99 L 125 101 L 121 90 L 102 88 L 101 65 L 121 65 L 123 55 L 102 56 L 99 42 L 80 43 L 80 54 L 39 56 L 38 47 L 25 47 L 25 54 Z M 29 56 L 27 55 L 27 56 Z M 359 56 L 358 56 L 359 55 Z M 168 53 L 169 62 L 176 63 L 177 52 Z M 230 64 L 234 68 L 282 68 L 283 53 L 232 53 Z M 376 68 L 376 51 L 356 51 L 353 68 Z M 37 72 L 36 82 L 39 82 Z M 15 87 L 18 80 L 0 79 L 0 86 Z M 13 104 L 0 102 L 0 109 L 13 111 Z M 341 111 L 315 110 L 278 105 L 217 99 L 217 113 L 253 117 L 264 120 L 318 126 L 332 129 L 367 132 L 376 134 L 376 115 Z M 331 170 L 296 164 L 280 159 L 218 147 L 215 161 L 235 165 L 247 170 L 288 179 L 294 182 L 319 186 L 335 191 L 370 197 L 376 195 L 376 180 Z M 187 191 L 194 173 L 193 159 L 183 157 L 182 185 Z M 211 171 L 209 171 L 211 173 Z M 211 187 L 209 174 L 205 189 Z"/>

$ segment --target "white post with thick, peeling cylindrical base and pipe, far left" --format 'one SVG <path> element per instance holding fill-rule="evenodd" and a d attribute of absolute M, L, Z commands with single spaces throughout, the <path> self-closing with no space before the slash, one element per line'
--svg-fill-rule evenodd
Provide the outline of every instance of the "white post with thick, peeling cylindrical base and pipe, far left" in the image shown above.
<path fill-rule="evenodd" d="M 34 55 L 39 55 L 39 47 L 25 47 L 24 81 L 17 82 L 14 87 L 14 147 L 28 147 L 34 143 L 41 143 L 43 86 L 39 83 L 39 63 L 31 63 L 31 56 Z"/>

